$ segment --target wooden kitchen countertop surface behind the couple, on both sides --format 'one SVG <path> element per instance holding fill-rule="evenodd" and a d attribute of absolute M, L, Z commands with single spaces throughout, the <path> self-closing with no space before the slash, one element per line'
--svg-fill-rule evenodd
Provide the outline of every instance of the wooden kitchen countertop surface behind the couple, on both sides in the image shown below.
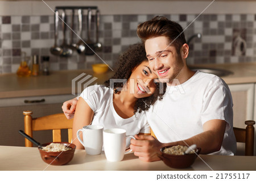
<path fill-rule="evenodd" d="M 232 71 L 233 74 L 221 77 L 229 85 L 256 82 L 255 62 L 239 64 L 202 64 L 193 66 Z M 52 71 L 50 75 L 39 75 L 38 77 L 18 77 L 14 73 L 2 74 L 0 75 L 0 98 L 71 94 L 72 79 L 76 78 L 81 73 L 97 77 L 96 81 L 92 82 L 91 85 L 94 85 L 96 82 L 102 84 L 113 75 L 112 70 L 104 74 L 96 74 L 93 73 L 92 70 L 62 70 Z"/>

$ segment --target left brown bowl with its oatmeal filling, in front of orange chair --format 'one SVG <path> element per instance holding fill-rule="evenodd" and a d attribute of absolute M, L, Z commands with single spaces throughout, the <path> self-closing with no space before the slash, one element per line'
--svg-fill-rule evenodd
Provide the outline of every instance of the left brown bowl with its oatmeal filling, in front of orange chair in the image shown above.
<path fill-rule="evenodd" d="M 48 142 L 38 147 L 41 158 L 49 165 L 65 165 L 74 157 L 76 145 L 69 142 Z"/>

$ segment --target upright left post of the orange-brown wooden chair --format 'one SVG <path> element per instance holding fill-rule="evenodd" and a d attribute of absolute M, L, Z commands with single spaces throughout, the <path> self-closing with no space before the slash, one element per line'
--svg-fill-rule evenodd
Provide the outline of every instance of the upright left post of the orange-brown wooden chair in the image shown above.
<path fill-rule="evenodd" d="M 33 137 L 32 135 L 32 117 L 31 117 L 32 111 L 23 111 L 24 116 L 24 133 L 26 133 L 28 136 Z M 25 138 L 25 146 L 26 147 L 33 147 L 33 144 L 31 141 L 29 141 L 27 138 Z"/>

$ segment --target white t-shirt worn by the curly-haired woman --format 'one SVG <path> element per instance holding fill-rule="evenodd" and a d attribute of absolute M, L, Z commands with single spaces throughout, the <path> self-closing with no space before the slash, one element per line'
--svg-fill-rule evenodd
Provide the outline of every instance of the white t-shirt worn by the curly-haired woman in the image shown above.
<path fill-rule="evenodd" d="M 102 125 L 104 129 L 122 128 L 126 130 L 126 135 L 133 136 L 138 133 L 150 133 L 144 111 L 137 112 L 127 119 L 118 115 L 113 106 L 113 89 L 104 85 L 93 85 L 82 91 L 80 96 L 94 112 L 92 125 Z M 129 140 L 126 140 L 127 144 Z"/>

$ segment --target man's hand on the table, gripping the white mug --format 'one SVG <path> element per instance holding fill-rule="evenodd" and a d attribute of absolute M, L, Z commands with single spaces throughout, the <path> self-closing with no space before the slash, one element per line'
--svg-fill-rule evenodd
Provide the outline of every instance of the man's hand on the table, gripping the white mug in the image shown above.
<path fill-rule="evenodd" d="M 135 135 L 137 140 L 131 139 L 130 148 L 134 155 L 145 162 L 158 161 L 160 158 L 156 153 L 160 153 L 163 144 L 152 136 Z"/>

